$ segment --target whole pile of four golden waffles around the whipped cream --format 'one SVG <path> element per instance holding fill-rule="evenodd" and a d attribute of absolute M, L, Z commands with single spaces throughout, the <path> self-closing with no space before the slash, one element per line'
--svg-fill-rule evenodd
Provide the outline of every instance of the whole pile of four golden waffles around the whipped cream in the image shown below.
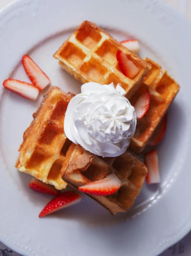
<path fill-rule="evenodd" d="M 123 51 L 139 72 L 128 78 L 120 71 L 116 59 Z M 61 67 L 82 83 L 121 83 L 126 97 L 134 105 L 138 97 L 149 89 L 151 104 L 147 114 L 137 122 L 137 130 L 130 148 L 140 153 L 155 127 L 167 111 L 179 90 L 177 83 L 161 70 L 160 65 L 146 58 L 142 60 L 95 24 L 84 21 L 54 54 Z M 121 180 L 120 189 L 109 196 L 91 197 L 112 214 L 130 209 L 142 188 L 147 168 L 130 152 L 116 158 L 98 157 L 80 145 L 71 143 L 64 134 L 63 122 L 71 94 L 51 87 L 34 113 L 34 120 L 24 133 L 16 167 L 23 172 L 54 185 L 57 189 L 74 188 L 103 179 L 115 173 Z"/>

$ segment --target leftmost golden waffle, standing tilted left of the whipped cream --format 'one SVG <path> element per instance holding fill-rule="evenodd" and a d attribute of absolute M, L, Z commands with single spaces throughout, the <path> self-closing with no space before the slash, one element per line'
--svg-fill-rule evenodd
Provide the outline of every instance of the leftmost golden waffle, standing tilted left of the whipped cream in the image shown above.
<path fill-rule="evenodd" d="M 71 144 L 63 130 L 64 115 L 72 95 L 50 87 L 33 121 L 23 134 L 16 167 L 57 189 L 66 188 L 60 170 Z"/>

